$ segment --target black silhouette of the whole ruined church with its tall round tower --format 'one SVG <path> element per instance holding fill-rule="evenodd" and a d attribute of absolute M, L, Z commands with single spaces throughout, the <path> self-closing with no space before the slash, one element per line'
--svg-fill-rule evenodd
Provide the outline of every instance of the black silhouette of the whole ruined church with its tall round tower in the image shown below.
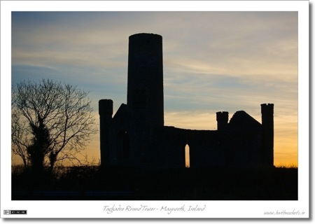
<path fill-rule="evenodd" d="M 261 104 L 261 124 L 245 111 L 216 113 L 217 130 L 164 125 L 162 36 L 129 37 L 127 104 L 99 100 L 101 165 L 179 168 L 274 164 L 274 104 Z"/>

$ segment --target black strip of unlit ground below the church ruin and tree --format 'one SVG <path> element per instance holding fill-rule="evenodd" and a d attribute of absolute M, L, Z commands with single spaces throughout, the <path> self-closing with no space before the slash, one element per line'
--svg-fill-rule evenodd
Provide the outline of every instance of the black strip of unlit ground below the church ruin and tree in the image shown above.
<path fill-rule="evenodd" d="M 297 168 L 13 167 L 12 200 L 297 200 Z"/>

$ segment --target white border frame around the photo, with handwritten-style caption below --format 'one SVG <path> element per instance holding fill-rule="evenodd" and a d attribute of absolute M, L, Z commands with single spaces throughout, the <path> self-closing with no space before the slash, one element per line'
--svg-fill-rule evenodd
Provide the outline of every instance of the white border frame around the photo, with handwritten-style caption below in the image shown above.
<path fill-rule="evenodd" d="M 297 201 L 11 201 L 10 177 L 10 15 L 16 10 L 224 10 L 298 11 L 298 200 Z M 309 218 L 309 1 L 1 1 L 1 218 Z M 302 111 L 302 112 L 301 112 Z M 202 212 L 103 211 L 104 206 L 153 208 L 185 204 Z M 27 215 L 3 216 L 3 210 Z M 266 216 L 265 211 L 304 211 Z"/>

